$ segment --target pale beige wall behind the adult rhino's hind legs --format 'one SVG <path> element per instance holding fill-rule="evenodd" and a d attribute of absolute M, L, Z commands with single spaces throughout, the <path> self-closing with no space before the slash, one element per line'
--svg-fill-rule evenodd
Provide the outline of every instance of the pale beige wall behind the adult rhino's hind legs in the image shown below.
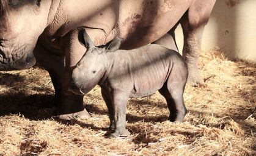
<path fill-rule="evenodd" d="M 181 51 L 181 27 L 176 32 Z M 256 0 L 217 0 L 205 27 L 202 49 L 221 48 L 230 52 L 230 59 L 256 61 Z"/>

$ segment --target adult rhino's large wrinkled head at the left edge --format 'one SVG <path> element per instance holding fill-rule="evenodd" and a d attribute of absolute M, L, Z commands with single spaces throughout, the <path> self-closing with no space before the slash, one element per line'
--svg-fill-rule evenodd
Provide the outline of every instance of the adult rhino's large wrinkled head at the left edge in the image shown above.
<path fill-rule="evenodd" d="M 48 23 L 51 0 L 0 0 L 0 71 L 35 64 L 33 50 Z"/>

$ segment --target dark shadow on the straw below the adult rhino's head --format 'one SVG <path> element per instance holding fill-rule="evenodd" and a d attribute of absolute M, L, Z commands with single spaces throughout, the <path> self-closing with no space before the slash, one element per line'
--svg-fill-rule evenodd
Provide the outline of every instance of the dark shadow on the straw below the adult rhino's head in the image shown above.
<path fill-rule="evenodd" d="M 18 114 L 28 119 L 48 119 L 56 115 L 56 108 L 50 107 L 53 95 L 24 93 L 0 94 L 0 115 Z"/>

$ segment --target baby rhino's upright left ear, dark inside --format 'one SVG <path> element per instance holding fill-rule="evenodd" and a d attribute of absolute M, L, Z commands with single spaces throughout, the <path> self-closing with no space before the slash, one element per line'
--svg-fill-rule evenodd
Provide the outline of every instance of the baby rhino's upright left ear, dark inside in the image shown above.
<path fill-rule="evenodd" d="M 84 27 L 78 27 L 78 41 L 87 49 L 95 47 Z"/>

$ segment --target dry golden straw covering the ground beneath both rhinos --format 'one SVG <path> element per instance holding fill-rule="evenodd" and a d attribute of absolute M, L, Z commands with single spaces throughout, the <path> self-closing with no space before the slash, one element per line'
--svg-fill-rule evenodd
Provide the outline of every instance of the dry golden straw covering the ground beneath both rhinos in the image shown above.
<path fill-rule="evenodd" d="M 167 120 L 164 98 L 128 104 L 127 138 L 106 138 L 108 111 L 95 87 L 84 96 L 90 119 L 54 118 L 54 90 L 38 67 L 0 73 L 0 155 L 256 155 L 256 64 L 203 51 L 205 85 L 187 86 L 183 123 Z"/>

